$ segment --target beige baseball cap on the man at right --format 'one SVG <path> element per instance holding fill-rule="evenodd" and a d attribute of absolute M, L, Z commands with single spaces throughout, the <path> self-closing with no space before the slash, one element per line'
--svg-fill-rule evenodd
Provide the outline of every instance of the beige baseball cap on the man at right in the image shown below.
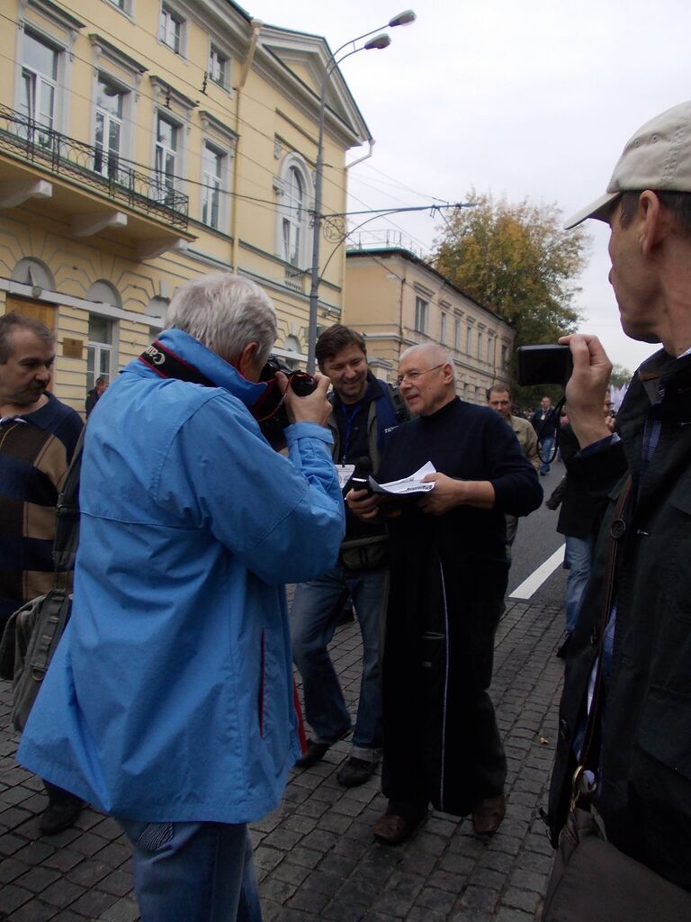
<path fill-rule="evenodd" d="M 607 191 L 577 214 L 565 229 L 587 218 L 606 220 L 623 192 L 691 192 L 691 100 L 656 115 L 627 142 Z"/>

